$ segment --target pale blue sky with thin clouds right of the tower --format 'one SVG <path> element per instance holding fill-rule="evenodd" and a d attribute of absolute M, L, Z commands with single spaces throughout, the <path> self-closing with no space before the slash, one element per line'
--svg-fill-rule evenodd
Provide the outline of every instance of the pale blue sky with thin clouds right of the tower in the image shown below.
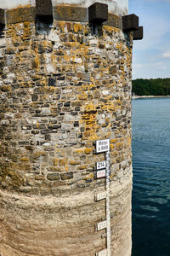
<path fill-rule="evenodd" d="M 129 0 L 144 39 L 133 41 L 133 79 L 170 78 L 170 0 Z"/>

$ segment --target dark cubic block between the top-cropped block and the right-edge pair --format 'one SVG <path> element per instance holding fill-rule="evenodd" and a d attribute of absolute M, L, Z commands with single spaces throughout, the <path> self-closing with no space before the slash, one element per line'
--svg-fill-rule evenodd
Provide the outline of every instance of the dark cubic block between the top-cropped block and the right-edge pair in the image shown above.
<path fill-rule="evenodd" d="M 103 23 L 108 20 L 108 5 L 105 3 L 94 3 L 88 7 L 88 21 Z"/>

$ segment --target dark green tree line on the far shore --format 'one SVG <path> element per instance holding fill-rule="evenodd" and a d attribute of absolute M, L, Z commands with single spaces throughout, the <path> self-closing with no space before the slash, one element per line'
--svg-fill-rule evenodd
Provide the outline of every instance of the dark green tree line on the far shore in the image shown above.
<path fill-rule="evenodd" d="M 170 95 L 170 79 L 135 79 L 133 80 L 133 95 Z"/>

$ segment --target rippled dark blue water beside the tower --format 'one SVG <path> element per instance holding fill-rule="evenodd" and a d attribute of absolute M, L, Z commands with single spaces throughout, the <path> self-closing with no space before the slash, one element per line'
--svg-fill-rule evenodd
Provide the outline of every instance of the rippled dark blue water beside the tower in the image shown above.
<path fill-rule="evenodd" d="M 170 98 L 133 100 L 133 256 L 170 255 Z"/>

